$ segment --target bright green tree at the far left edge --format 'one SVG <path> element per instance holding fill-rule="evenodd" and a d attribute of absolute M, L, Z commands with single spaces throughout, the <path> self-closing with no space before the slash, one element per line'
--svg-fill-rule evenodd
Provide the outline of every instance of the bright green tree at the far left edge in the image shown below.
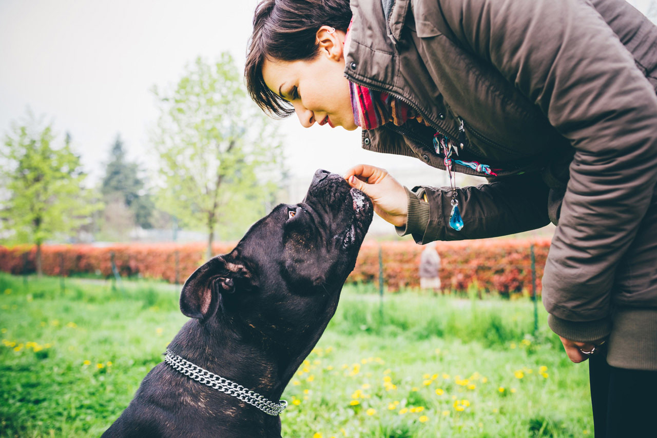
<path fill-rule="evenodd" d="M 28 113 L 24 124 L 12 123 L 0 150 L 5 160 L 0 173 L 9 196 L 0 217 L 13 231 L 11 240 L 36 244 L 39 276 L 41 244 L 57 233 L 71 234 L 100 207 L 82 187 L 86 175 L 71 150 L 70 135 L 58 141 L 53 127 L 42 125 Z"/>

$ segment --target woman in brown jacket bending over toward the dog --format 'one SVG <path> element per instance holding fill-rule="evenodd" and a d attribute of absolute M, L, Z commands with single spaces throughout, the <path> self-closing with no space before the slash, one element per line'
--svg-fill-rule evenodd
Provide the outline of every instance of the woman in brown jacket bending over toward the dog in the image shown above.
<path fill-rule="evenodd" d="M 267 112 L 449 171 L 413 190 L 346 174 L 418 243 L 557 224 L 549 325 L 591 358 L 596 436 L 638 437 L 657 408 L 656 66 L 657 28 L 623 0 L 265 0 L 245 76 Z"/>

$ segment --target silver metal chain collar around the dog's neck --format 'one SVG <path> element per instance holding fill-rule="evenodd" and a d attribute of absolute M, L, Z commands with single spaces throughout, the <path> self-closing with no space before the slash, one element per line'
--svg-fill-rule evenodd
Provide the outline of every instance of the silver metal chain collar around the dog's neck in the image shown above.
<path fill-rule="evenodd" d="M 171 353 L 169 349 L 166 350 L 164 361 L 174 370 L 193 378 L 196 382 L 203 383 L 204 385 L 217 389 L 217 391 L 237 397 L 249 405 L 256 406 L 256 408 L 265 412 L 265 414 L 277 416 L 287 407 L 287 402 L 284 400 L 281 400 L 279 403 L 269 401 L 260 394 L 255 393 L 250 389 L 246 389 L 242 385 L 238 385 L 235 382 L 231 382 L 231 380 L 217 376 L 217 374 L 214 374 L 213 372 L 204 370 L 200 366 L 196 366 L 192 362 L 186 361 L 179 355 Z"/>

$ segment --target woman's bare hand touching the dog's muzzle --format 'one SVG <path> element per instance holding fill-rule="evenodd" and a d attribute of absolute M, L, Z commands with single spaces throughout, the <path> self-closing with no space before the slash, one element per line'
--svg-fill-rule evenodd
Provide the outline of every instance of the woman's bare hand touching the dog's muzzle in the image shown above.
<path fill-rule="evenodd" d="M 369 196 L 374 212 L 396 227 L 406 225 L 408 197 L 404 187 L 388 171 L 367 164 L 351 167 L 344 179 L 350 186 Z"/>

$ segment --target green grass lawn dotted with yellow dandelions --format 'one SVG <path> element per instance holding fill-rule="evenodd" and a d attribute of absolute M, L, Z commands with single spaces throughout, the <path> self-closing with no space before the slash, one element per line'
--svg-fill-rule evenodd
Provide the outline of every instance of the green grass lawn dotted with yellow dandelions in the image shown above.
<path fill-rule="evenodd" d="M 64 285 L 0 274 L 0 437 L 98 437 L 187 319 L 175 286 Z M 526 299 L 405 292 L 381 313 L 364 289 L 344 288 L 288 385 L 284 437 L 593 435 L 587 366 L 568 361 L 540 304 L 533 336 Z"/>

